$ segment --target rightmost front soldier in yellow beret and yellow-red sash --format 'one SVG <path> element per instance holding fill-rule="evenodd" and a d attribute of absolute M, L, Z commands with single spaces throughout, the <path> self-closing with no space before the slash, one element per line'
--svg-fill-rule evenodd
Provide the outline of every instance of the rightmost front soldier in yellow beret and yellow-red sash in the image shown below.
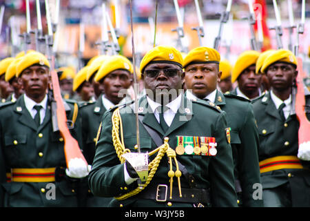
<path fill-rule="evenodd" d="M 261 71 L 271 90 L 254 100 L 254 115 L 260 137 L 260 174 L 265 206 L 310 206 L 309 160 L 298 158 L 299 122 L 292 103 L 292 85 L 297 76 L 296 57 L 289 50 L 269 55 Z M 310 96 L 306 95 L 306 104 Z M 306 108 L 310 119 L 309 108 Z"/>

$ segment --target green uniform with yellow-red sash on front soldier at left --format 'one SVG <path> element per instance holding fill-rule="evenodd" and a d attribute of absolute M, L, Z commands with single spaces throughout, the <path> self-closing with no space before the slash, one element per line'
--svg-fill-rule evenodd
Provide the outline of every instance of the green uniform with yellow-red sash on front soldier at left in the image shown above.
<path fill-rule="evenodd" d="M 75 121 L 74 105 L 67 104 L 67 117 Z M 0 167 L 7 177 L 6 182 L 1 180 L 4 206 L 78 206 L 79 181 L 65 175 L 63 138 L 52 132 L 50 106 L 39 126 L 25 107 L 24 96 L 3 104 L 0 115 Z M 81 144 L 79 130 L 76 120 L 71 132 Z M 48 198 L 53 184 L 55 198 Z"/>

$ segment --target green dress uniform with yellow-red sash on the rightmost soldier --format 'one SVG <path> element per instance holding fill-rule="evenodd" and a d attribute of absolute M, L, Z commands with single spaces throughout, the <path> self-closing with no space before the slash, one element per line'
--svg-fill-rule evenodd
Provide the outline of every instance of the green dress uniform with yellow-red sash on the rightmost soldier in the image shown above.
<path fill-rule="evenodd" d="M 306 104 L 310 104 L 309 95 Z M 297 158 L 299 122 L 296 114 L 289 115 L 283 122 L 270 92 L 256 99 L 253 106 L 260 136 L 259 160 L 263 190 L 289 184 L 291 195 L 287 197 L 291 198 L 292 206 L 309 206 L 310 164 Z M 309 109 L 307 117 L 310 119 Z M 277 164 L 279 161 L 282 164 Z"/>

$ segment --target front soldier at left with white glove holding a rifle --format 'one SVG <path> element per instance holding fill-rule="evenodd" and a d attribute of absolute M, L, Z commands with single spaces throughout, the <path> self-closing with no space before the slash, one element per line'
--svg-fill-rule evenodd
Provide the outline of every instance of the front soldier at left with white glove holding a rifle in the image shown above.
<path fill-rule="evenodd" d="M 0 168 L 8 177 L 4 182 L 1 170 L 4 206 L 79 206 L 79 178 L 87 171 L 79 164 L 66 169 L 63 137 L 53 133 L 46 94 L 49 67 L 41 53 L 25 55 L 17 64 L 25 94 L 0 108 Z M 77 105 L 65 103 L 65 107 L 68 119 L 76 122 L 71 132 L 78 139 Z"/>

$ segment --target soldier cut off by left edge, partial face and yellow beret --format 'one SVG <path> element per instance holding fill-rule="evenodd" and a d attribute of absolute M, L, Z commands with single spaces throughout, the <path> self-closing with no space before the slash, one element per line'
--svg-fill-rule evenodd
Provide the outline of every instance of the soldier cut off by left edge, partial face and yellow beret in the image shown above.
<path fill-rule="evenodd" d="M 6 81 L 6 69 L 14 61 L 14 57 L 7 57 L 0 61 L 0 102 L 6 102 L 6 99 L 14 92 L 12 86 Z"/>

